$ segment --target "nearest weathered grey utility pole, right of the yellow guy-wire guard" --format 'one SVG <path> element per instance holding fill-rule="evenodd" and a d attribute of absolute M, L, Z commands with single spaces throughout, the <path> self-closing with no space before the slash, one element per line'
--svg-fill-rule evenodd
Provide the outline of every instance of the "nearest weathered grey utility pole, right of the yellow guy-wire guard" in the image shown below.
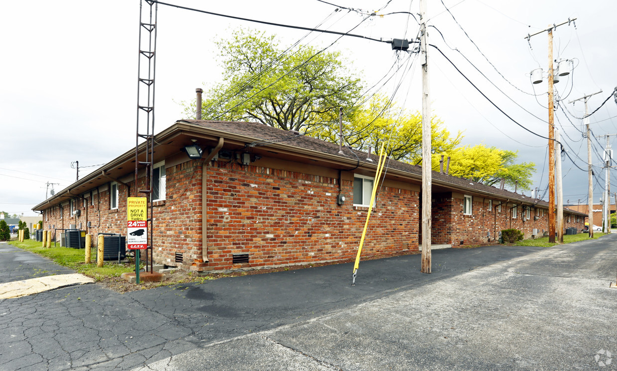
<path fill-rule="evenodd" d="M 420 0 L 420 61 L 422 68 L 422 258 L 421 272 L 431 273 L 431 100 L 426 43 L 426 2 Z"/>

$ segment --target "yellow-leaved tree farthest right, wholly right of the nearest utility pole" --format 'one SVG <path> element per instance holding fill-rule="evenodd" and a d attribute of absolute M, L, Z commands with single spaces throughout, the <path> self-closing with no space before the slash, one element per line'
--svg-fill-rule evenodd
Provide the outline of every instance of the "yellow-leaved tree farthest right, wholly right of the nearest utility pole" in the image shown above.
<path fill-rule="evenodd" d="M 518 189 L 529 189 L 531 176 L 536 171 L 536 165 L 532 162 L 515 162 L 518 152 L 486 147 L 483 144 L 466 145 L 445 152 L 444 155 L 450 156 L 450 175 L 487 185 L 494 185 L 503 178 L 510 189 L 513 189 L 517 182 Z M 433 156 L 433 169 L 439 169 L 440 158 L 439 155 Z"/>

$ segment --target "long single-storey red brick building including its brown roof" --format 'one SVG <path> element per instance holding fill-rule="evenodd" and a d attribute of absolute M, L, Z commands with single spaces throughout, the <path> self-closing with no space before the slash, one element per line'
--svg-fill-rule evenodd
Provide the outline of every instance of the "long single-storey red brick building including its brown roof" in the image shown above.
<path fill-rule="evenodd" d="M 258 123 L 177 121 L 155 141 L 155 263 L 221 271 L 355 256 L 375 155 L 347 148 L 340 155 L 338 145 Z M 204 149 L 201 159 L 184 152 L 193 143 Z M 418 250 L 421 241 L 421 168 L 386 165 L 363 256 Z M 33 210 L 43 212 L 46 229 L 75 224 L 93 235 L 125 235 L 134 169 L 133 149 Z M 139 189 L 144 182 L 139 174 Z M 479 245 L 505 228 L 525 238 L 548 229 L 546 202 L 438 172 L 432 187 L 436 245 Z M 581 230 L 583 213 L 564 216 L 565 227 Z"/>

